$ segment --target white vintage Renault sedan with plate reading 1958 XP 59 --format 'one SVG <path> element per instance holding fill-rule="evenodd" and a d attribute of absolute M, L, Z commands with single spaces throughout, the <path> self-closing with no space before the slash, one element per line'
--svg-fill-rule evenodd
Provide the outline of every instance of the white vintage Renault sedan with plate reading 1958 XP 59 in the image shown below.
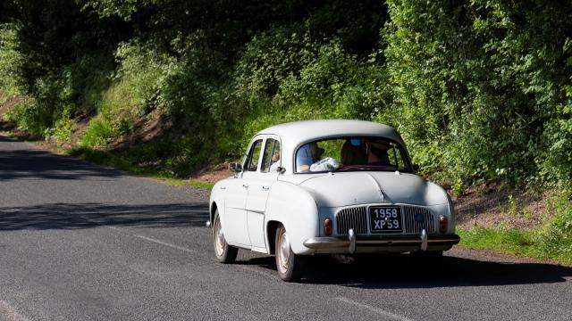
<path fill-rule="evenodd" d="M 266 128 L 234 177 L 216 183 L 210 219 L 216 259 L 238 249 L 275 254 L 296 281 L 306 256 L 411 252 L 439 259 L 458 243 L 453 205 L 415 174 L 401 136 L 359 120 L 309 120 Z"/>

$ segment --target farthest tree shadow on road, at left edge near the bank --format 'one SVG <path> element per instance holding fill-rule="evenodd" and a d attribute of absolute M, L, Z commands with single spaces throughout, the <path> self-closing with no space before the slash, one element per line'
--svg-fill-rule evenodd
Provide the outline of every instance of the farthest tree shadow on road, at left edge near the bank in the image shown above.
<path fill-rule="evenodd" d="M 14 141 L 0 136 L 0 142 Z M 51 152 L 21 149 L 0 152 L 0 181 L 12 179 L 85 179 L 119 177 L 122 172 Z"/>

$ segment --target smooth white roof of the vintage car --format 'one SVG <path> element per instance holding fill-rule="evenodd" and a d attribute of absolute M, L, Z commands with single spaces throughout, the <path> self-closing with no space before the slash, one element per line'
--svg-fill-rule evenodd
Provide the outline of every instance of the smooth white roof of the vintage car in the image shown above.
<path fill-rule="evenodd" d="M 321 119 L 284 123 L 265 128 L 258 135 L 276 135 L 290 144 L 301 144 L 331 136 L 382 136 L 403 144 L 401 136 L 390 126 L 364 120 Z"/>

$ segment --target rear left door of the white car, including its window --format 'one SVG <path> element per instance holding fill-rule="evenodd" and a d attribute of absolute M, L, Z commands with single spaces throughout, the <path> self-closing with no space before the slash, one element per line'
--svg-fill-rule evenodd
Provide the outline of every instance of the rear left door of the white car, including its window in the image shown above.
<path fill-rule="evenodd" d="M 265 209 L 268 194 L 278 179 L 280 165 L 280 140 L 276 136 L 265 136 L 264 152 L 256 171 L 245 172 L 248 177 L 247 218 L 248 235 L 254 251 L 266 251 Z"/>

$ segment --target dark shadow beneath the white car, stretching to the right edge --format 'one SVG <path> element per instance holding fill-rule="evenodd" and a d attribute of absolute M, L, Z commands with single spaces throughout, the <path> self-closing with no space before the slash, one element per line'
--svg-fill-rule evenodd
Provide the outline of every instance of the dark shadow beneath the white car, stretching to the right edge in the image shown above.
<path fill-rule="evenodd" d="M 276 269 L 273 257 L 237 262 Z M 423 268 L 408 254 L 376 256 L 342 264 L 327 257 L 307 262 L 305 284 L 338 284 L 364 289 L 416 289 L 566 282 L 572 268 L 543 263 L 499 263 L 443 257 L 440 268 Z M 278 277 L 278 276 L 276 276 Z"/>

